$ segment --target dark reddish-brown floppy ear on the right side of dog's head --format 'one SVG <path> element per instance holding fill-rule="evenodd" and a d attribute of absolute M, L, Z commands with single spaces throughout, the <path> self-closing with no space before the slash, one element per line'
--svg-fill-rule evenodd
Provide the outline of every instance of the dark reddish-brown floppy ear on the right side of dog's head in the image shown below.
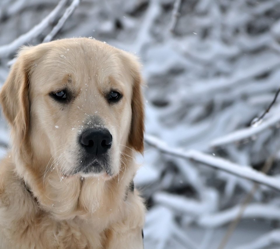
<path fill-rule="evenodd" d="M 125 52 L 125 58 L 123 59 L 125 62 L 126 69 L 129 70 L 129 74 L 133 79 L 133 87 L 132 87 L 132 100 L 131 100 L 131 108 L 132 108 L 132 119 L 131 119 L 131 127 L 128 137 L 128 143 L 132 146 L 136 151 L 143 153 L 144 150 L 144 101 L 143 101 L 143 92 L 142 85 L 143 79 L 140 73 L 140 64 L 137 59 Z"/>

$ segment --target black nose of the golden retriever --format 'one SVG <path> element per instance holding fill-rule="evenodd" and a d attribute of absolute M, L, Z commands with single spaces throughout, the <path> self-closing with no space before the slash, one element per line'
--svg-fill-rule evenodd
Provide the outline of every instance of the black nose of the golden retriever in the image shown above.
<path fill-rule="evenodd" d="M 89 154 L 104 154 L 112 144 L 112 135 L 107 129 L 88 129 L 81 135 L 81 145 Z"/>

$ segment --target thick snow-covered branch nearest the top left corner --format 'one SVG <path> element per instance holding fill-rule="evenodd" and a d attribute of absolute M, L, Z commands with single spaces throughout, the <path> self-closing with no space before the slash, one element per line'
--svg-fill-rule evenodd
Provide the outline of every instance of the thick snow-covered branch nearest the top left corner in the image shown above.
<path fill-rule="evenodd" d="M 21 45 L 24 45 L 28 41 L 30 41 L 32 38 L 37 37 L 39 34 L 41 34 L 49 25 L 51 22 L 55 20 L 57 15 L 61 12 L 62 8 L 67 3 L 67 0 L 61 0 L 57 6 L 53 9 L 53 11 L 46 16 L 39 24 L 34 26 L 31 30 L 29 30 L 27 33 L 22 34 L 20 37 L 15 39 L 10 44 L 6 44 L 0 47 L 0 57 L 8 57 L 13 52 L 15 52 Z"/>

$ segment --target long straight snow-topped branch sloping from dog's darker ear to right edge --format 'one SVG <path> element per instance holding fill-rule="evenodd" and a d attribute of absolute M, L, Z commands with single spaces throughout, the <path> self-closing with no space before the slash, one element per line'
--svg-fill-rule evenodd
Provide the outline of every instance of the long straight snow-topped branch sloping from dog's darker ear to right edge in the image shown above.
<path fill-rule="evenodd" d="M 280 190 L 280 182 L 278 179 L 267 176 L 262 172 L 258 172 L 251 168 L 248 165 L 239 165 L 233 162 L 230 162 L 226 159 L 217 156 L 207 155 L 203 152 L 196 150 L 183 150 L 181 148 L 170 148 L 162 140 L 146 135 L 145 141 L 151 146 L 154 146 L 161 152 L 167 153 L 169 155 L 174 155 L 177 157 L 194 160 L 196 162 L 209 165 L 213 168 L 226 171 L 228 173 L 252 180 L 254 182 L 266 185 L 268 187 Z"/>

